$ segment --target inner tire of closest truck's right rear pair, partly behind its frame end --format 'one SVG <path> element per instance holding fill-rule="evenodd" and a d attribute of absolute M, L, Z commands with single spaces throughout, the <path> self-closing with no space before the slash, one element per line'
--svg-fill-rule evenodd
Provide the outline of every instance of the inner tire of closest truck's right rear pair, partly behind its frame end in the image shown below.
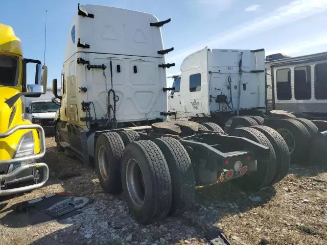
<path fill-rule="evenodd" d="M 241 188 L 249 190 L 259 190 L 270 185 L 276 172 L 276 154 L 268 138 L 259 130 L 253 128 L 237 128 L 231 131 L 231 135 L 248 138 L 270 149 L 269 161 L 258 160 L 256 171 L 232 180 L 232 182 Z"/>

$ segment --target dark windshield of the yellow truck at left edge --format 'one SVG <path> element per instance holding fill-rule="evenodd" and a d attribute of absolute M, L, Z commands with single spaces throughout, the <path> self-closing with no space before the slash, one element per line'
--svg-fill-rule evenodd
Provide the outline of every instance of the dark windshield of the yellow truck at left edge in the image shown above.
<path fill-rule="evenodd" d="M 18 80 L 18 58 L 0 55 L 0 85 L 16 86 Z"/>

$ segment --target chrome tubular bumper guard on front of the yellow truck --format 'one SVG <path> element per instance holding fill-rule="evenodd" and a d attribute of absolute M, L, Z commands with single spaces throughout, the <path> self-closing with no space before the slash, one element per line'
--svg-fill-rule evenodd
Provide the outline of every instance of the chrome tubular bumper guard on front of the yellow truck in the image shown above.
<path fill-rule="evenodd" d="M 21 163 L 21 162 L 26 162 L 26 161 L 32 162 L 32 161 L 40 159 L 44 156 L 44 154 L 45 154 L 45 136 L 44 136 L 44 130 L 39 125 L 35 125 L 35 124 L 18 125 L 18 126 L 11 128 L 7 132 L 0 134 L 0 138 L 6 138 L 18 130 L 26 130 L 26 129 L 38 130 L 39 135 L 40 135 L 40 153 L 31 155 L 31 156 L 17 157 L 17 158 L 12 158 L 12 159 L 8 159 L 8 160 L 0 160 L 0 166 L 8 166 L 9 167 L 10 164 L 13 164 L 13 163 Z M 3 181 L 12 182 L 15 180 L 17 175 L 22 173 L 22 171 L 25 171 L 25 170 L 31 169 L 31 168 L 34 169 L 33 173 L 35 173 L 36 168 L 43 169 L 43 178 L 40 183 L 17 187 L 17 188 L 12 188 L 12 189 L 4 189 L 3 190 L 1 188 L 1 184 Z M 32 164 L 28 164 L 28 165 L 20 165 L 15 170 L 13 170 L 11 173 L 5 174 L 5 175 L 0 175 L 0 196 L 15 194 L 18 192 L 25 192 L 25 191 L 39 188 L 42 185 L 44 185 L 48 179 L 49 179 L 49 168 L 48 168 L 48 165 L 46 165 L 45 163 L 32 163 Z M 19 181 L 17 181 L 17 182 L 19 182 Z"/>

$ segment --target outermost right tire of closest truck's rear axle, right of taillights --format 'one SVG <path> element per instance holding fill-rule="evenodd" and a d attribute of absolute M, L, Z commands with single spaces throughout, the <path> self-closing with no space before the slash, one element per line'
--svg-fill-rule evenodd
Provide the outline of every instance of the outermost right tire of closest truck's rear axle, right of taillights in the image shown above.
<path fill-rule="evenodd" d="M 267 126 L 252 126 L 251 128 L 263 133 L 272 144 L 276 154 L 276 173 L 272 184 L 281 181 L 287 175 L 291 161 L 290 152 L 288 151 L 285 140 L 277 131 Z"/>

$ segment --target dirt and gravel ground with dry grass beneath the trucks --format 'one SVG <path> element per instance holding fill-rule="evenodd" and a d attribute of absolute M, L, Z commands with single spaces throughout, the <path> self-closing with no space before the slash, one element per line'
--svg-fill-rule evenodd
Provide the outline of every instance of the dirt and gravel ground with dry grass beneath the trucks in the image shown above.
<path fill-rule="evenodd" d="M 192 210 L 153 225 L 139 225 L 121 195 L 104 193 L 93 167 L 58 153 L 46 138 L 46 186 L 0 199 L 0 244 L 209 244 L 214 226 L 231 244 L 327 244 L 326 169 L 292 165 L 273 187 L 243 192 L 227 183 L 198 187 Z M 59 180 L 66 174 L 76 177 Z M 70 192 L 92 202 L 82 214 L 42 226 L 29 226 L 15 204 L 54 192 Z M 262 240 L 262 239 L 266 239 Z"/>

